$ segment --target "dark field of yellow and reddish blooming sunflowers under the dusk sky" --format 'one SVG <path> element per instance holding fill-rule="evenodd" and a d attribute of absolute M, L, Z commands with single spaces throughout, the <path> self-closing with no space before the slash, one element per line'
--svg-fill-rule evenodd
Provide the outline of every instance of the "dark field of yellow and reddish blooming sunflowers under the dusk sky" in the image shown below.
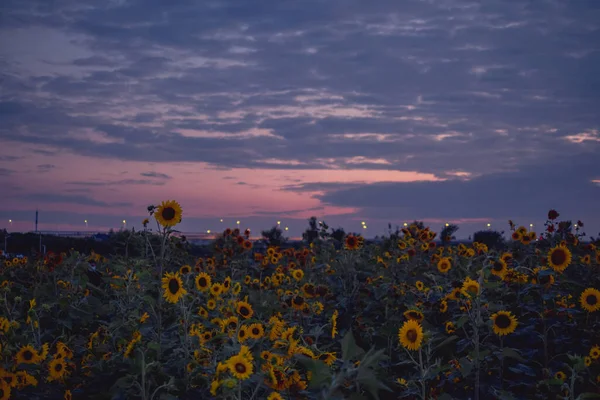
<path fill-rule="evenodd" d="M 0 400 L 600 398 L 600 251 L 554 210 L 503 248 L 227 229 L 204 259 L 149 213 L 145 258 L 0 255 Z"/>

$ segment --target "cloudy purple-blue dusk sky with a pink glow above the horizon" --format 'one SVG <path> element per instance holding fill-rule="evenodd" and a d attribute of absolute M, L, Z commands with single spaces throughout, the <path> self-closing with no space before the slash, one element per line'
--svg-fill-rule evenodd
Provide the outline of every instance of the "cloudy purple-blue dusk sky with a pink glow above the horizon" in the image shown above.
<path fill-rule="evenodd" d="M 0 228 L 596 236 L 598 71 L 596 0 L 4 0 Z"/>

